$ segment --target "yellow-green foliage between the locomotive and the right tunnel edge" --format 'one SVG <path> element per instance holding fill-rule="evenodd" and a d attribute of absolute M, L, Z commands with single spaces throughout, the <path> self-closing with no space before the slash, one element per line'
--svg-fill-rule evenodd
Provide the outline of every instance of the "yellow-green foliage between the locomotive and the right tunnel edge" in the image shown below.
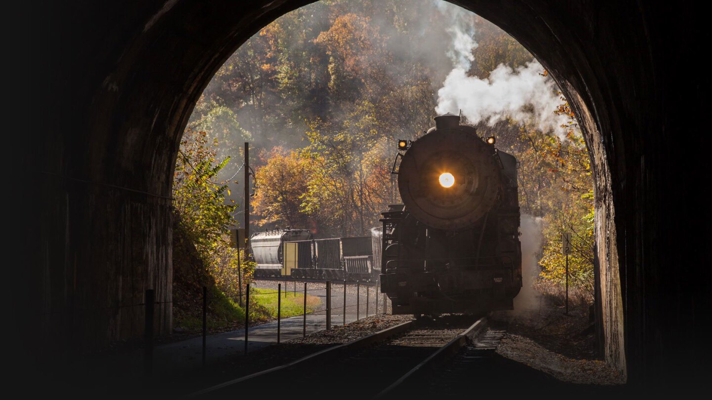
<path fill-rule="evenodd" d="M 570 115 L 570 107 L 564 102 L 555 112 Z M 561 233 L 572 232 L 574 253 L 569 256 L 569 284 L 592 298 L 595 214 L 590 157 L 573 117 L 564 129 L 562 138 L 521 125 L 518 140 L 510 139 L 511 152 L 521 165 L 522 212 L 541 216 L 545 223 L 538 285 L 565 285 Z"/>

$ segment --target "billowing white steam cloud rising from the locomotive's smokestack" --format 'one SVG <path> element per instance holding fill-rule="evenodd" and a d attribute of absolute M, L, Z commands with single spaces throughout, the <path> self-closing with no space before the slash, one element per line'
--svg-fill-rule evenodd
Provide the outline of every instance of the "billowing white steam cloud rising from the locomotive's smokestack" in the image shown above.
<path fill-rule="evenodd" d="M 543 66 L 537 60 L 516 69 L 501 64 L 491 71 L 489 78 L 467 76 L 474 60 L 472 50 L 477 47 L 472 19 L 468 18 L 474 14 L 452 4 L 441 4 L 438 9 L 450 19 L 448 54 L 454 69 L 438 90 L 436 112 L 462 110 L 471 122 L 488 125 L 507 117 L 532 121 L 540 130 L 553 130 L 565 140 L 562 130 L 557 128 L 566 122 L 566 117 L 554 114 L 562 100 L 554 81 L 540 75 Z"/>

